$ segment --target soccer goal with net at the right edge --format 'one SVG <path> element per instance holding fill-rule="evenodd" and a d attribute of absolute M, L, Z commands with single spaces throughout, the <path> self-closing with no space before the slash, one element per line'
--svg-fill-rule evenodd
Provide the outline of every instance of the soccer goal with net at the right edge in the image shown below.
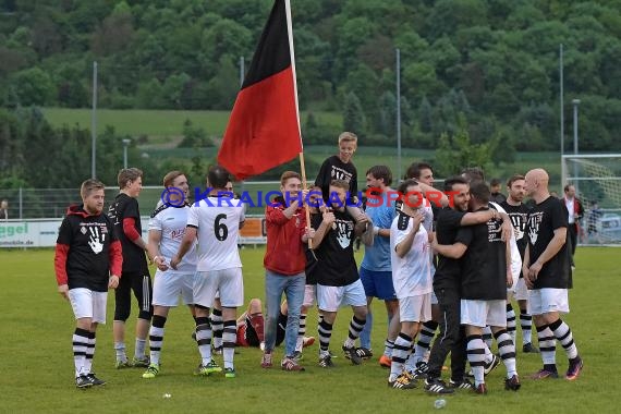
<path fill-rule="evenodd" d="M 584 205 L 580 242 L 621 246 L 621 154 L 564 155 L 562 182 Z"/>

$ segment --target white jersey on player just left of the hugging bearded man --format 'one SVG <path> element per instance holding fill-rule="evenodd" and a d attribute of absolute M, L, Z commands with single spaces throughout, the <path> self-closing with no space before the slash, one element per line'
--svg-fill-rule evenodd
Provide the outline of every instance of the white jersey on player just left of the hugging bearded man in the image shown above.
<path fill-rule="evenodd" d="M 395 218 L 390 227 L 392 284 L 397 299 L 422 295 L 434 291 L 429 263 L 429 240 L 425 227 L 421 224 L 412 242 L 412 247 L 405 256 L 399 257 L 394 251 L 394 247 L 403 242 L 413 227 L 414 220 L 412 218 L 407 220 L 405 230 L 399 229 L 399 218 Z"/>

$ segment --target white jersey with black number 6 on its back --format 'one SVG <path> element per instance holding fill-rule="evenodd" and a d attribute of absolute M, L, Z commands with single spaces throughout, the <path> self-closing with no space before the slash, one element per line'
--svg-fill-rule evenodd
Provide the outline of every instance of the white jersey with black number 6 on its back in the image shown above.
<path fill-rule="evenodd" d="M 187 226 L 198 229 L 197 271 L 242 267 L 238 239 L 244 220 L 244 204 L 240 199 L 209 196 L 192 205 Z"/>

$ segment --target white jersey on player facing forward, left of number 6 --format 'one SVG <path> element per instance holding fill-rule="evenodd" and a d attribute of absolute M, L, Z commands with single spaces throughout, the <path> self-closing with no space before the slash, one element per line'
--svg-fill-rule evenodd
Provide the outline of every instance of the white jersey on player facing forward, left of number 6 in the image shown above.
<path fill-rule="evenodd" d="M 167 264 L 170 264 L 172 256 L 179 252 L 179 246 L 181 245 L 181 241 L 185 234 L 188 211 L 190 206 L 163 207 L 159 205 L 149 219 L 149 231 L 157 230 L 161 232 L 159 252 Z M 194 272 L 196 270 L 197 260 L 196 242 L 194 242 L 190 251 L 185 256 L 183 256 L 183 259 L 176 266 L 176 270 L 169 267 L 168 271 L 183 273 Z"/>

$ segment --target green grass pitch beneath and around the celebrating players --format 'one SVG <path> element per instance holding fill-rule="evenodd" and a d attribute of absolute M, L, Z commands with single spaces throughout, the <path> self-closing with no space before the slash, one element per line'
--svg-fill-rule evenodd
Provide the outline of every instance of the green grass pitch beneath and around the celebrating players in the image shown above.
<path fill-rule="evenodd" d="M 538 369 L 538 355 L 518 353 L 518 370 L 522 389 L 504 391 L 503 367 L 488 377 L 489 394 L 475 397 L 467 392 L 448 397 L 446 412 L 451 413 L 534 413 L 534 412 L 618 412 L 614 401 L 621 392 L 618 381 L 618 329 L 621 271 L 618 249 L 579 248 L 571 291 L 572 313 L 567 316 L 585 361 L 577 381 L 564 379 L 535 382 L 527 375 Z M 263 248 L 244 248 L 246 300 L 263 297 Z M 358 256 L 361 254 L 358 253 Z M 360 259 L 360 257 L 358 257 Z M 153 380 L 141 377 L 142 369 L 117 370 L 113 367 L 112 305 L 108 301 L 108 325 L 98 330 L 94 369 L 108 385 L 86 391 L 73 382 L 71 334 L 74 321 L 70 305 L 56 293 L 52 249 L 0 249 L 3 265 L 2 293 L 2 403 L 0 412 L 75 412 L 93 413 L 170 413 L 207 409 L 226 413 L 302 413 L 317 410 L 331 412 L 387 413 L 404 407 L 434 410 L 436 398 L 421 389 L 388 389 L 388 370 L 377 358 L 363 366 L 352 366 L 340 346 L 346 336 L 350 309 L 343 309 L 332 336 L 332 351 L 339 355 L 332 370 L 316 366 L 316 343 L 305 352 L 305 373 L 284 373 L 259 367 L 257 349 L 241 349 L 235 355 L 238 378 L 223 375 L 197 378 L 191 373 L 198 353 L 190 336 L 193 329 L 188 312 L 179 307 L 171 312 L 162 351 L 161 374 Z M 360 264 L 360 260 L 358 260 Z M 374 302 L 374 350 L 379 354 L 386 332 L 383 305 Z M 129 332 L 133 330 L 135 313 Z M 316 313 L 308 317 L 308 332 L 316 336 Z M 133 339 L 129 334 L 129 352 Z M 520 333 L 519 333 L 520 338 Z M 617 350 L 617 351 L 616 351 Z M 276 356 L 281 356 L 278 349 Z M 379 355 L 378 355 L 379 356 Z M 559 369 L 567 369 L 564 352 L 558 346 Z M 165 399 L 163 394 L 171 394 Z"/>

